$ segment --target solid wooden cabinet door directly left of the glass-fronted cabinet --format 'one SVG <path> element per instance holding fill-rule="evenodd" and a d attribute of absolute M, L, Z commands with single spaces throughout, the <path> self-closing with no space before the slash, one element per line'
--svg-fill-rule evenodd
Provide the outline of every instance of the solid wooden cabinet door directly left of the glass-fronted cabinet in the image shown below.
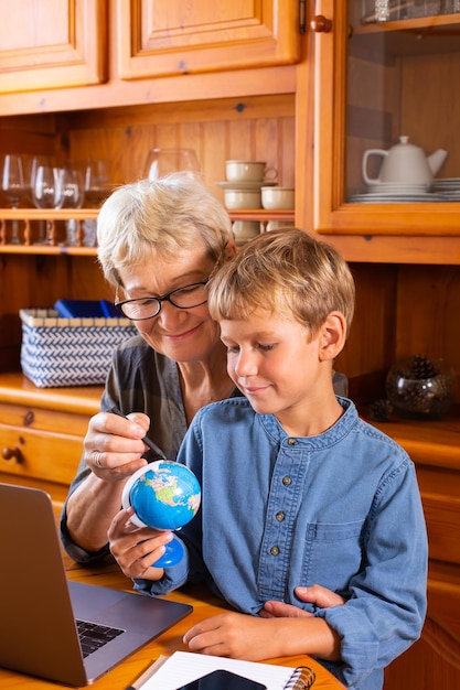
<path fill-rule="evenodd" d="M 117 11 L 124 79 L 299 60 L 298 0 L 118 0 Z"/>

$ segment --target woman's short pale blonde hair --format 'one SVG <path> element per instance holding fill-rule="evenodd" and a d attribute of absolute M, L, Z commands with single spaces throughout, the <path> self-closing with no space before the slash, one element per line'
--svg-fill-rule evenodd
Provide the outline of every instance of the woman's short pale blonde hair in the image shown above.
<path fill-rule="evenodd" d="M 122 269 L 149 258 L 173 260 L 181 249 L 203 247 L 217 260 L 231 239 L 225 208 L 201 180 L 184 173 L 118 187 L 97 218 L 98 260 L 115 287 L 122 287 Z"/>

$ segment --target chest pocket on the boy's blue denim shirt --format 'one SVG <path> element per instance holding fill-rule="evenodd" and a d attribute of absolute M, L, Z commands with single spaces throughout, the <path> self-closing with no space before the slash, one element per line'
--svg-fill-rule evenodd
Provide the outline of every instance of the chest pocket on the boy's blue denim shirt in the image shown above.
<path fill-rule="evenodd" d="M 302 584 L 345 590 L 363 567 L 364 528 L 365 520 L 309 525 Z"/>

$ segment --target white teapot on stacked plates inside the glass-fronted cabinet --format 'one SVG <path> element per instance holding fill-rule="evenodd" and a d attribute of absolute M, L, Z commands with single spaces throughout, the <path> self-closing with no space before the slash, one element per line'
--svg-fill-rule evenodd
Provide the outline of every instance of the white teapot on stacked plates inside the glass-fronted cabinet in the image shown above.
<path fill-rule="evenodd" d="M 378 177 L 367 175 L 370 155 L 379 155 L 383 159 Z M 389 151 L 368 149 L 363 155 L 363 177 L 370 185 L 381 183 L 424 185 L 429 187 L 434 176 L 438 173 L 447 157 L 447 151 L 438 149 L 431 155 L 426 155 L 420 147 L 409 143 L 408 137 L 399 137 L 399 143 Z"/>

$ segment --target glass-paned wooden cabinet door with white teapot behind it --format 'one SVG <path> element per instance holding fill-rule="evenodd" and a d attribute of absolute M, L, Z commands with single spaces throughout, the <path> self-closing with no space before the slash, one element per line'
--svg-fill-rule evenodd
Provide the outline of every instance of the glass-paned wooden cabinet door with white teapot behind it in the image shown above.
<path fill-rule="evenodd" d="M 460 13 L 441 13 L 441 2 L 318 4 L 314 229 L 459 236 Z M 397 160 L 403 136 L 409 145 Z"/>

